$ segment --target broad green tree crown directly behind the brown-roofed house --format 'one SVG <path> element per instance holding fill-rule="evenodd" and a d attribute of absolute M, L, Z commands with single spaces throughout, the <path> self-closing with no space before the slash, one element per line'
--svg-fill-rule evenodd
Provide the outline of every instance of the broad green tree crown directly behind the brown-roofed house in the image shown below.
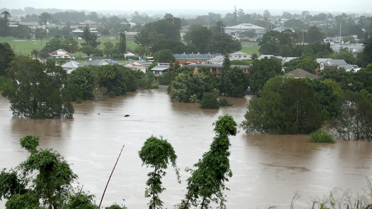
<path fill-rule="evenodd" d="M 301 56 L 299 58 L 290 60 L 283 64 L 284 70 L 286 73 L 301 68 L 302 70 L 308 71 L 309 73 L 314 74 L 315 69 L 320 67 L 319 63 L 315 61 L 312 57 Z"/>

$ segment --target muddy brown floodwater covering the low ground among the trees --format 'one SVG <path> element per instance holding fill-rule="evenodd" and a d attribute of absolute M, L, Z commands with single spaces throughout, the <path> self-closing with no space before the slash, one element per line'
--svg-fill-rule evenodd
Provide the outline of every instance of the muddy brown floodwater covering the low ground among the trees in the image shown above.
<path fill-rule="evenodd" d="M 184 168 L 208 151 L 214 137 L 212 123 L 226 113 L 240 123 L 249 99 L 228 98 L 234 106 L 206 110 L 199 104 L 172 102 L 166 90 L 138 90 L 104 102 L 74 104 L 74 119 L 33 120 L 13 118 L 9 102 L 0 97 L 0 169 L 25 160 L 28 153 L 20 148 L 19 138 L 37 133 L 40 148 L 64 155 L 83 189 L 99 200 L 125 144 L 102 205 L 121 204 L 125 199 L 128 208 L 147 208 L 144 190 L 150 170 L 141 167 L 138 150 L 151 135 L 162 135 L 176 150 L 182 170 L 182 184 L 177 184 L 172 169 L 163 180 L 167 190 L 160 198 L 164 206 L 173 208 L 185 194 L 189 175 Z M 311 197 L 328 195 L 335 187 L 362 193 L 368 189 L 366 177 L 372 176 L 372 142 L 317 144 L 308 142 L 307 135 L 244 131 L 230 141 L 233 176 L 227 183 L 230 191 L 225 192 L 230 209 L 289 208 L 295 193 L 300 196 L 296 206 L 304 208 L 311 204 Z"/>

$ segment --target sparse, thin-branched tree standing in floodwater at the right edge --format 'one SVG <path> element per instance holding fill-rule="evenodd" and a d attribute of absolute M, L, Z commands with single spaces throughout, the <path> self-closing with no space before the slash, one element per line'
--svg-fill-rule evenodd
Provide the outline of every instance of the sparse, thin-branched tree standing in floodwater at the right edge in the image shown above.
<path fill-rule="evenodd" d="M 360 92 L 346 91 L 341 114 L 333 124 L 341 138 L 370 141 L 372 139 L 372 102 Z"/>

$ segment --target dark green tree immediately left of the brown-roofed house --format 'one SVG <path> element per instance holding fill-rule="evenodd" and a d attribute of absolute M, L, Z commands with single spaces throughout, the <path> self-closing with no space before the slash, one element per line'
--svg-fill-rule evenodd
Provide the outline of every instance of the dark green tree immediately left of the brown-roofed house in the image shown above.
<path fill-rule="evenodd" d="M 249 69 L 250 88 L 254 93 L 259 93 L 267 80 L 275 75 L 282 75 L 282 65 L 280 62 L 268 59 L 254 60 Z"/>

